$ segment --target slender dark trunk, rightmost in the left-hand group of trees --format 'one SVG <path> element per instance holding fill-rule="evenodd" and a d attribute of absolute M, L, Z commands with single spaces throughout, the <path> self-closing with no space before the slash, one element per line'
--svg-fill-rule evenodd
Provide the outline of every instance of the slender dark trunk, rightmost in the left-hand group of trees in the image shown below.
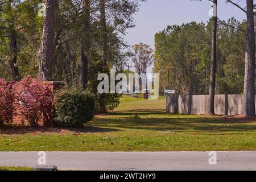
<path fill-rule="evenodd" d="M 102 63 L 104 67 L 107 64 L 108 59 L 108 39 L 107 39 L 107 27 L 106 27 L 106 10 L 105 10 L 105 0 L 100 0 L 101 7 L 101 43 L 102 43 Z"/>

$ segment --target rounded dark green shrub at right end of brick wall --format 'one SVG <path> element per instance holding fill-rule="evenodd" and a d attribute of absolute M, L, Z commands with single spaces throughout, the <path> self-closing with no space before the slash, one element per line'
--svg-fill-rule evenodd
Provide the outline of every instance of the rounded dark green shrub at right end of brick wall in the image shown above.
<path fill-rule="evenodd" d="M 82 126 L 92 121 L 95 97 L 80 89 L 62 89 L 55 95 L 55 121 L 64 127 Z"/>

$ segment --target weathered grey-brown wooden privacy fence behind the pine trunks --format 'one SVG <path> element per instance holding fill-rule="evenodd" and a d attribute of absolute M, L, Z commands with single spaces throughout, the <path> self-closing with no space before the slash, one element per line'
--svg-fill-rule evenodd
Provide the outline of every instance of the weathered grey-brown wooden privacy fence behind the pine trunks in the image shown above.
<path fill-rule="evenodd" d="M 207 114 L 209 96 L 171 95 L 166 98 L 166 110 L 179 114 Z M 256 100 L 255 100 L 256 101 Z M 243 95 L 216 95 L 214 100 L 215 114 L 243 114 Z"/>

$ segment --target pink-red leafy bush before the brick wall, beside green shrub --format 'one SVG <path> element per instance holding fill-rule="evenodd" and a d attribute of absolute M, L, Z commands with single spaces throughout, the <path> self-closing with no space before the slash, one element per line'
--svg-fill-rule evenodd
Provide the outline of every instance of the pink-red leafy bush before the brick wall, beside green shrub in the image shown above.
<path fill-rule="evenodd" d="M 38 126 L 42 116 L 44 122 L 52 121 L 53 94 L 49 86 L 44 85 L 42 80 L 30 76 L 23 78 L 19 85 L 22 86 L 22 91 L 17 97 L 19 109 L 28 123 L 31 126 Z"/>

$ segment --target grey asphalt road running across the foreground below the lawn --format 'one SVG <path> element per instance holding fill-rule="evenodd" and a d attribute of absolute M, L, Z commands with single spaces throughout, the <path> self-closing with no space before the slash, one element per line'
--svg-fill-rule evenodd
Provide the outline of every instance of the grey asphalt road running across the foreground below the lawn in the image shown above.
<path fill-rule="evenodd" d="M 0 152 L 0 166 L 36 167 L 39 157 L 38 152 Z M 216 165 L 209 164 L 210 157 L 209 152 L 46 152 L 46 163 L 101 171 L 256 170 L 256 151 L 217 152 Z"/>

